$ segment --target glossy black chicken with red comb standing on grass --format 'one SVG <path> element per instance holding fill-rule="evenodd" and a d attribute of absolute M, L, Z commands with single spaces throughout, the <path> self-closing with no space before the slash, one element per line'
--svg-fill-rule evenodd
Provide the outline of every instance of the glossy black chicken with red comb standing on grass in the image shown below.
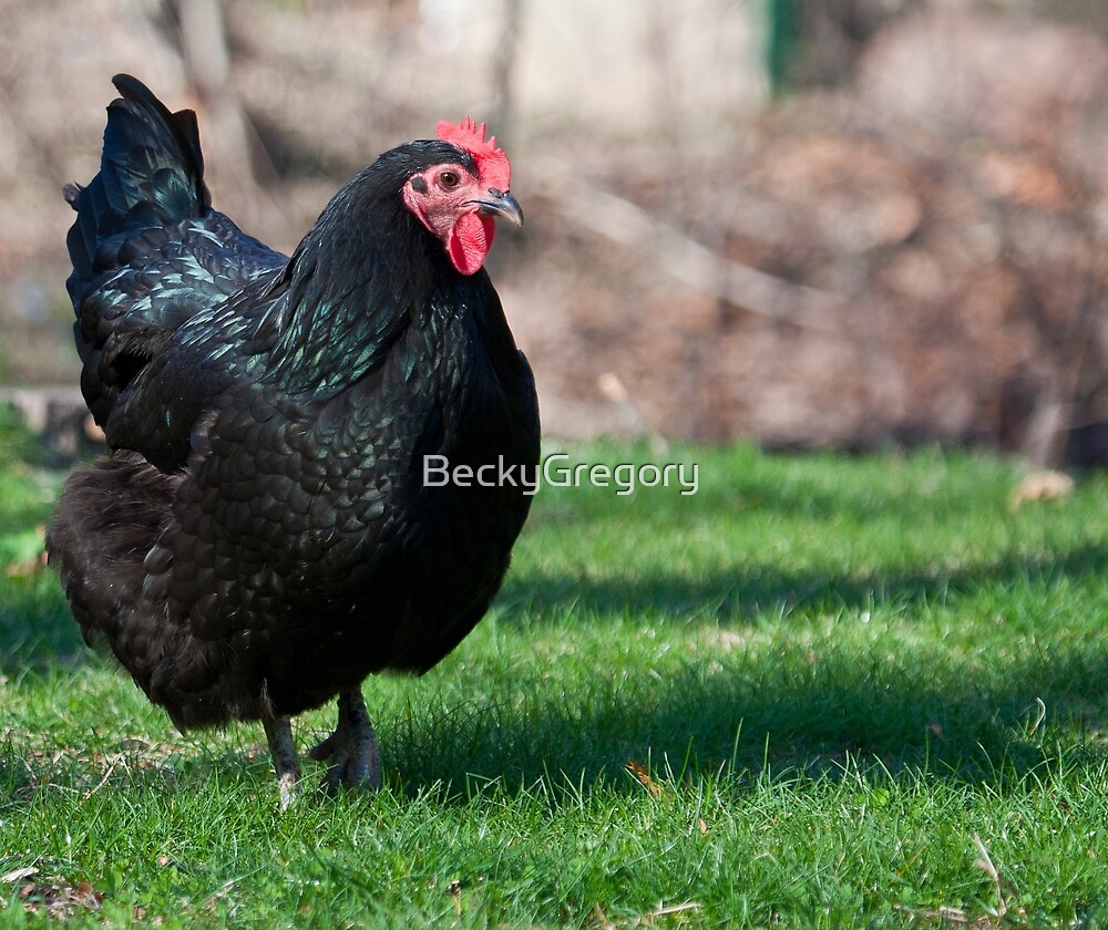
<path fill-rule="evenodd" d="M 482 268 L 493 217 L 523 220 L 507 156 L 441 123 L 286 258 L 211 207 L 195 114 L 114 83 L 100 174 L 65 192 L 81 388 L 112 453 L 70 476 L 50 561 L 85 639 L 179 728 L 263 722 L 283 800 L 289 717 L 335 695 L 311 755 L 332 788 L 378 787 L 362 680 L 462 640 L 531 503 L 424 480 L 429 455 L 538 461 L 534 380 Z"/>

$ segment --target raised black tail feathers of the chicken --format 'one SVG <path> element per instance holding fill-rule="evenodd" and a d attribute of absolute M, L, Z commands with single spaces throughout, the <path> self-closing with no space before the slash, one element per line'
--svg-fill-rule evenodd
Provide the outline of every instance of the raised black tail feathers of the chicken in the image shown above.
<path fill-rule="evenodd" d="M 78 213 L 66 238 L 71 296 L 92 276 L 104 239 L 131 227 L 202 216 L 209 203 L 196 114 L 171 113 L 130 74 L 112 81 L 122 96 L 107 107 L 100 174 L 86 187 L 64 190 Z"/>

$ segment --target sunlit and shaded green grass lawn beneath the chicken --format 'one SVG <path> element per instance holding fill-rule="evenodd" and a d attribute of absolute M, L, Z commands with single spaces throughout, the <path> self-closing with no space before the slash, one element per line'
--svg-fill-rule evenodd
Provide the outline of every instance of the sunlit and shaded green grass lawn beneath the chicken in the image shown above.
<path fill-rule="evenodd" d="M 699 490 L 544 488 L 490 617 L 367 682 L 386 789 L 285 814 L 258 727 L 182 737 L 80 647 L 27 561 L 57 482 L 0 471 L 0 924 L 1108 926 L 1105 476 L 572 453 Z"/>

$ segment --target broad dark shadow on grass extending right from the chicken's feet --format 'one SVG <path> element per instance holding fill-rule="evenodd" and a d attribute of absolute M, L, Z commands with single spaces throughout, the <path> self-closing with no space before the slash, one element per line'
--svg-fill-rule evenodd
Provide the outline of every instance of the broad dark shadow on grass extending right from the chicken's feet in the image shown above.
<path fill-rule="evenodd" d="M 694 783 L 717 774 L 749 783 L 860 771 L 1026 790 L 1059 765 L 1108 761 L 1096 738 L 1108 725 L 1108 662 L 1081 662 L 1075 683 L 1068 658 L 1040 657 L 991 682 L 960 680 L 954 670 L 897 682 L 845 669 L 817 681 L 613 679 L 586 706 L 555 686 L 523 710 L 414 712 L 382 721 L 379 732 L 386 768 L 406 792 L 445 783 L 462 792 L 460 800 L 468 785 L 511 790 L 541 781 L 571 794 L 601 785 L 638 792 L 626 771 L 633 761 L 658 779 Z"/>

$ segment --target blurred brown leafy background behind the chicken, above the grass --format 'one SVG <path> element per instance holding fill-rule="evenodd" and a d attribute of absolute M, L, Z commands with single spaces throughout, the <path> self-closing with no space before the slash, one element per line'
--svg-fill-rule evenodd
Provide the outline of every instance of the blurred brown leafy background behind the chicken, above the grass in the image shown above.
<path fill-rule="evenodd" d="M 61 187 L 96 172 L 129 71 L 198 112 L 216 207 L 285 251 L 380 152 L 488 120 L 527 215 L 491 270 L 550 435 L 1108 459 L 1104 0 L 0 0 L 0 385 L 32 418 L 75 391 Z"/>

